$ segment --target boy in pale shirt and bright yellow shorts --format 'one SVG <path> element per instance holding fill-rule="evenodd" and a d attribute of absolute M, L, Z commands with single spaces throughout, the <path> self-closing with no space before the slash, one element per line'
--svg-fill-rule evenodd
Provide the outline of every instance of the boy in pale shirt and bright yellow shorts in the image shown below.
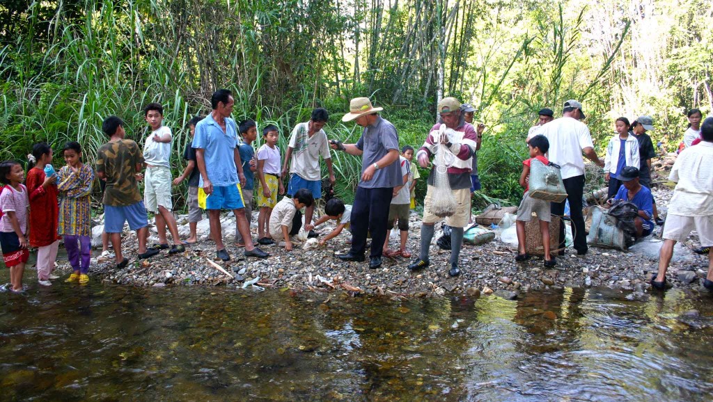
<path fill-rule="evenodd" d="M 257 242 L 260 244 L 274 244 L 275 240 L 270 236 L 268 225 L 272 208 L 277 204 L 277 193 L 284 194 L 282 180 L 280 180 L 279 148 L 277 139 L 279 132 L 275 125 L 267 125 L 262 129 L 262 140 L 265 143 L 257 150 L 257 178 L 260 187 L 257 190 L 257 207 L 260 208 L 260 215 L 257 215 Z"/>

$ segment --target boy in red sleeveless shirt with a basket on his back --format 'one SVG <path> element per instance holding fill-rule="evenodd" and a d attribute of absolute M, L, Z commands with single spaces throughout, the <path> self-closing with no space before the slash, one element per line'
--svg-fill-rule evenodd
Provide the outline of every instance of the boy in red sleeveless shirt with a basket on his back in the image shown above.
<path fill-rule="evenodd" d="M 530 258 L 530 254 L 525 252 L 525 222 L 532 219 L 533 212 L 540 220 L 540 233 L 542 234 L 542 245 L 545 249 L 545 267 L 554 267 L 557 264 L 555 257 L 550 255 L 550 202 L 545 200 L 535 200 L 530 197 L 530 163 L 533 159 L 548 165 L 550 163 L 545 158 L 545 153 L 550 150 L 550 141 L 544 135 L 535 135 L 528 141 L 530 159 L 523 161 L 523 173 L 520 175 L 520 185 L 525 187 L 520 207 L 518 207 L 517 232 L 518 232 L 518 255 L 515 261 L 525 261 Z"/>

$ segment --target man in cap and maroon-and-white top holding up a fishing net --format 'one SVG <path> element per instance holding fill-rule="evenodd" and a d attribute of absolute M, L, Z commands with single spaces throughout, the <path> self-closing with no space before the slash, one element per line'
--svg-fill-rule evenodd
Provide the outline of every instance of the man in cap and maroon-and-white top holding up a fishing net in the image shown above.
<path fill-rule="evenodd" d="M 458 269 L 458 254 L 461 252 L 463 244 L 463 228 L 468 225 L 468 218 L 471 216 L 471 169 L 473 167 L 472 158 L 476 153 L 477 134 L 473 125 L 466 123 L 461 113 L 461 102 L 456 98 L 443 98 L 438 102 L 438 113 L 441 115 L 441 120 L 431 128 L 431 133 L 426 137 L 424 146 L 416 153 L 416 158 L 419 160 L 421 168 L 428 168 L 429 159 L 436 152 L 453 153 L 455 158 L 451 166 L 448 166 L 446 172 L 448 174 L 448 183 L 451 185 L 453 195 L 456 197 L 457 208 L 456 213 L 446 218 L 446 224 L 451 226 L 451 269 L 448 274 L 451 277 L 456 277 L 461 274 Z M 445 124 L 446 128 L 453 130 L 451 135 L 443 135 L 443 138 L 438 141 L 438 132 L 441 129 L 441 124 Z M 444 148 L 448 148 L 447 150 Z M 424 219 L 421 225 L 421 254 L 419 259 L 416 259 L 409 265 L 409 269 L 423 269 L 429 266 L 429 247 L 431 239 L 434 237 L 434 225 L 436 222 L 441 222 L 441 217 L 438 217 L 432 212 L 434 205 L 434 173 L 436 165 L 431 168 L 428 178 L 428 190 L 426 190 L 426 198 L 424 199 Z"/>

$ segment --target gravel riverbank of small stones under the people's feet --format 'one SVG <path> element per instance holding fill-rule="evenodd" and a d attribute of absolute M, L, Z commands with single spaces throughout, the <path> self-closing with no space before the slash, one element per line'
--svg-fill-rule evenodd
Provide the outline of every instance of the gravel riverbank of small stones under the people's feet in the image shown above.
<path fill-rule="evenodd" d="M 660 210 L 665 211 L 672 194 L 667 187 L 655 187 L 654 195 Z M 187 247 L 183 254 L 168 255 L 162 252 L 148 260 L 136 259 L 135 233 L 126 233 L 123 249 L 132 259 L 125 269 L 116 269 L 113 262 L 92 264 L 93 280 L 103 280 L 118 284 L 137 286 L 178 286 L 205 285 L 242 287 L 246 282 L 255 282 L 263 288 L 292 289 L 294 292 L 311 290 L 324 292 L 345 291 L 356 293 L 387 294 L 403 297 L 424 297 L 429 295 L 454 294 L 496 294 L 514 298 L 519 292 L 528 289 L 548 287 L 611 287 L 634 291 L 632 297 L 647 292 L 650 285 L 647 280 L 650 272 L 655 272 L 658 260 L 658 248 L 661 241 L 660 227 L 655 236 L 637 243 L 629 252 L 615 249 L 590 247 L 588 254 L 577 256 L 568 249 L 564 256 L 558 257 L 556 269 L 545 269 L 540 258 L 530 259 L 525 263 L 515 262 L 516 247 L 496 239 L 480 246 L 464 244 L 461 251 L 460 277 L 450 278 L 448 270 L 449 251 L 436 246 L 436 238 L 431 245 L 431 266 L 421 272 L 410 272 L 407 268 L 410 259 L 384 257 L 384 264 L 379 269 L 369 269 L 367 262 L 342 262 L 334 254 L 347 252 L 349 235 L 340 234 L 326 247 L 302 249 L 294 247 L 292 252 L 273 245 L 262 247 L 270 253 L 267 259 L 245 258 L 242 250 L 232 243 L 235 230 L 234 218 L 225 215 L 224 229 L 227 250 L 232 259 L 222 262 L 215 258 L 215 245 L 205 239 L 207 220 L 199 225 L 198 244 Z M 662 213 L 662 216 L 665 216 Z M 179 223 L 185 220 L 179 217 Z M 317 232 L 327 234 L 332 228 L 319 227 Z M 180 231 L 188 230 L 181 225 Z M 233 232 L 231 232 L 231 230 Z M 416 256 L 419 247 L 419 217 L 412 213 L 408 248 Z M 438 230 L 436 231 L 438 232 Z M 155 240 L 152 233 L 150 242 Z M 396 237 L 391 237 L 391 247 L 398 244 Z M 700 287 L 701 278 L 707 271 L 707 256 L 691 252 L 698 247 L 697 237 L 692 235 L 687 244 L 677 244 L 667 280 L 674 287 Z M 228 274 L 221 272 L 210 259 Z M 66 262 L 58 264 L 69 269 Z"/>

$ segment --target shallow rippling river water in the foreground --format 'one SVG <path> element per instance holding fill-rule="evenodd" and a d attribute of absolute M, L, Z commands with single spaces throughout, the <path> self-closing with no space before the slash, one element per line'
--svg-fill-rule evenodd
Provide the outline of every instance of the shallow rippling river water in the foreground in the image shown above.
<path fill-rule="evenodd" d="M 713 296 L 625 296 L 31 284 L 0 294 L 0 399 L 710 401 Z"/>

